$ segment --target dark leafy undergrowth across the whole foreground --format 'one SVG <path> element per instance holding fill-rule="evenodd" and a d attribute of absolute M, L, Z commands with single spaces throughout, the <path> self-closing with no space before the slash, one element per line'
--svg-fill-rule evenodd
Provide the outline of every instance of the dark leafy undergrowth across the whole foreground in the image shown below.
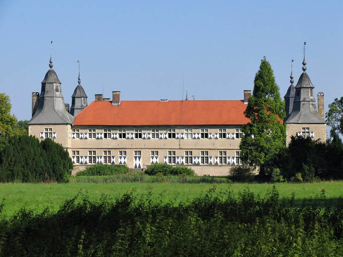
<path fill-rule="evenodd" d="M 343 256 L 343 198 L 299 206 L 275 188 L 264 198 L 211 188 L 175 205 L 150 195 L 75 197 L 9 219 L 0 202 L 0 256 Z"/>

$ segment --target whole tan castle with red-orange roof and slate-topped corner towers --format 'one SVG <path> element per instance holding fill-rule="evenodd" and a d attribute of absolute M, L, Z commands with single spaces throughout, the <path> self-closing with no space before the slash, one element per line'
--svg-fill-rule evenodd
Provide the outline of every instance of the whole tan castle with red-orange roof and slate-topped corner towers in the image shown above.
<path fill-rule="evenodd" d="M 69 110 L 52 58 L 49 67 L 41 92 L 32 93 L 29 134 L 62 144 L 76 170 L 93 164 L 142 170 L 164 163 L 189 166 L 198 175 L 227 175 L 231 167 L 243 164 L 239 145 L 241 127 L 249 122 L 244 112 L 251 90 L 244 90 L 243 100 L 154 101 L 125 101 L 120 91 L 112 91 L 111 99 L 96 94 L 88 105 L 79 72 Z M 325 121 L 313 105 L 313 85 L 305 70 L 295 87 L 291 75 L 285 95 L 287 138 L 301 132 L 325 140 Z"/>

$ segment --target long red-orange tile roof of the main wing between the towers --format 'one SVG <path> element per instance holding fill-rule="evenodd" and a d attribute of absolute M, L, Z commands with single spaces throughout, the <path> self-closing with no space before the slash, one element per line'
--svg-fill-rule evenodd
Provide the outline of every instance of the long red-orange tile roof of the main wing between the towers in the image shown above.
<path fill-rule="evenodd" d="M 242 100 L 93 101 L 74 125 L 242 125 L 246 107 Z"/>

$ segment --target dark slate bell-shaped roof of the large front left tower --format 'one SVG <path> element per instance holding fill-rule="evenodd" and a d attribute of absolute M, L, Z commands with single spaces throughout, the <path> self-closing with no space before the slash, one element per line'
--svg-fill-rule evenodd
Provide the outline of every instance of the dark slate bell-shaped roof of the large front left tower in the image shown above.
<path fill-rule="evenodd" d="M 50 57 L 50 70 L 45 74 L 42 81 L 37 109 L 29 121 L 30 125 L 73 124 L 74 122 L 73 115 L 66 110 L 61 82 L 52 69 L 53 66 L 52 57 Z"/>

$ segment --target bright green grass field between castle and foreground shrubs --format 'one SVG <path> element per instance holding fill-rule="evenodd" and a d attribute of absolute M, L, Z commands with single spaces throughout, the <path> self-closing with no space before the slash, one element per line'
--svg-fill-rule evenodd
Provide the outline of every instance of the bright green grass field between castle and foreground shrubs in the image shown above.
<path fill-rule="evenodd" d="M 146 197 L 151 192 L 152 199 L 162 199 L 163 202 L 172 201 L 175 204 L 180 201 L 194 199 L 205 194 L 209 188 L 216 191 L 232 190 L 234 193 L 244 189 L 265 196 L 272 188 L 272 184 L 184 184 L 184 183 L 66 183 L 66 184 L 0 184 L 0 199 L 4 199 L 3 213 L 12 215 L 20 208 L 33 209 L 41 212 L 44 208 L 57 211 L 60 205 L 67 199 L 71 199 L 78 193 L 87 195 L 89 199 L 96 200 L 102 195 L 109 199 L 135 190 L 140 197 Z M 320 182 L 320 183 L 280 183 L 275 184 L 280 198 L 290 197 L 295 194 L 298 204 L 303 199 L 315 198 L 325 190 L 328 203 L 334 202 L 343 196 L 343 181 Z"/>

